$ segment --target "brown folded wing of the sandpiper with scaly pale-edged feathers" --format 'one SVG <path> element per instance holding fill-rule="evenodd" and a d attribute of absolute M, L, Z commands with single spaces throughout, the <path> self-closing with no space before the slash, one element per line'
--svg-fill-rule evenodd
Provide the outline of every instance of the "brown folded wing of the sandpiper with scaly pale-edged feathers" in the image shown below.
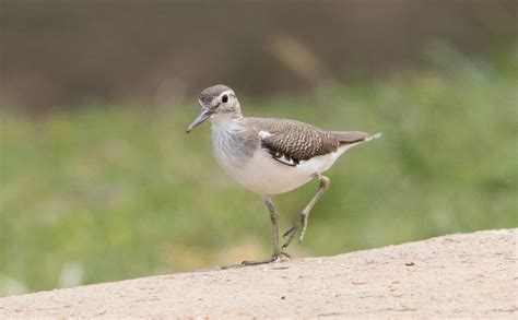
<path fill-rule="evenodd" d="M 261 137 L 261 145 L 274 159 L 290 166 L 301 161 L 335 152 L 340 142 L 314 126 L 284 119 L 250 118 Z"/>

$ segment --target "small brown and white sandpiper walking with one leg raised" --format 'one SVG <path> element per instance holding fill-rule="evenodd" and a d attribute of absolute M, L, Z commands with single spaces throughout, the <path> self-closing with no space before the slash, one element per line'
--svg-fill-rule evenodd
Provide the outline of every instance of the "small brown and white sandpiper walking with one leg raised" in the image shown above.
<path fill-rule="evenodd" d="M 304 238 L 313 206 L 329 186 L 322 174 L 348 149 L 380 137 L 358 131 L 323 131 L 295 120 L 244 117 L 237 96 L 226 85 L 203 90 L 199 103 L 201 112 L 187 128 L 187 133 L 205 120 L 212 122 L 212 152 L 223 170 L 248 190 L 262 197 L 273 226 L 273 254 L 264 261 L 244 261 L 258 264 L 276 261 L 297 230 Z M 299 220 L 284 233 L 279 246 L 278 212 L 271 200 L 279 194 L 317 179 L 319 189 L 304 208 Z"/>

